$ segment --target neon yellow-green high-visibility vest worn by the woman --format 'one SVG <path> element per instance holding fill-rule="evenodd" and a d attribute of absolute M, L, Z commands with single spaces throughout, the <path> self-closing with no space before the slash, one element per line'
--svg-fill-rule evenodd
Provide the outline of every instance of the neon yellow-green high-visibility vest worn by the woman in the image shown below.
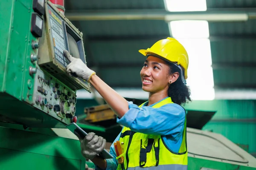
<path fill-rule="evenodd" d="M 173 103 L 170 97 L 152 107 L 160 108 L 169 103 Z M 124 163 L 118 164 L 117 170 L 187 170 L 186 119 L 178 153 L 166 146 L 163 136 L 134 132 L 128 127 L 122 129 L 119 141 L 124 142 Z"/>

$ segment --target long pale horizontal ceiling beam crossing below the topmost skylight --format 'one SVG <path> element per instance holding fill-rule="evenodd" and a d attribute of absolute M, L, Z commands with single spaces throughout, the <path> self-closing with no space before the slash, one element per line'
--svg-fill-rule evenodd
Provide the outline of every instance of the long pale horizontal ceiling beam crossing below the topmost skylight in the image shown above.
<path fill-rule="evenodd" d="M 71 20 L 208 20 L 246 21 L 256 19 L 256 8 L 208 8 L 207 11 L 170 12 L 165 9 L 66 11 Z"/>

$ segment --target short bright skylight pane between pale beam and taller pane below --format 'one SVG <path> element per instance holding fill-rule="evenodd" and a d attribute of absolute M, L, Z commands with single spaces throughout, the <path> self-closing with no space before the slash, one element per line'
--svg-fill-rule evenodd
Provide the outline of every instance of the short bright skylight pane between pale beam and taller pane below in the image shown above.
<path fill-rule="evenodd" d="M 171 21 L 169 26 L 174 38 L 209 38 L 208 22 L 204 20 Z"/>

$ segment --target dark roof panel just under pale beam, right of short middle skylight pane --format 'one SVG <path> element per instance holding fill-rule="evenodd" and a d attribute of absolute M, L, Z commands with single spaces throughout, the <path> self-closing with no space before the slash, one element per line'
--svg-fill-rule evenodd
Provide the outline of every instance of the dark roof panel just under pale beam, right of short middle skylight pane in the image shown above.
<path fill-rule="evenodd" d="M 256 20 L 248 20 L 246 22 L 209 22 L 210 36 L 227 36 L 232 34 L 256 34 L 255 28 Z"/>

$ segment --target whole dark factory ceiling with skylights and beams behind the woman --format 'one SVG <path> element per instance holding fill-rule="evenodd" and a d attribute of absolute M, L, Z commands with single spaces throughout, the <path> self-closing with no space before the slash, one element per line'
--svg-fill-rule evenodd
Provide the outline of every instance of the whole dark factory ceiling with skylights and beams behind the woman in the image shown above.
<path fill-rule="evenodd" d="M 167 1 L 65 0 L 65 15 L 84 34 L 89 68 L 124 94 L 141 95 L 138 50 L 175 37 L 188 48 L 192 94 L 202 91 L 195 99 L 255 99 L 256 1 L 206 0 L 201 11 L 170 10 Z"/>

